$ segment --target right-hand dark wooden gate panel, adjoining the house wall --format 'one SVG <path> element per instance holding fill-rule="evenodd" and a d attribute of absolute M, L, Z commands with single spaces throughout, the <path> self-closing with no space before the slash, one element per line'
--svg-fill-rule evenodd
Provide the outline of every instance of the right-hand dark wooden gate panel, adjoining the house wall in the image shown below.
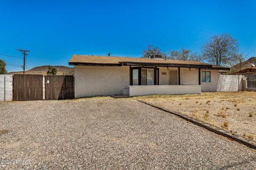
<path fill-rule="evenodd" d="M 45 100 L 73 99 L 74 97 L 73 75 L 46 75 Z"/>

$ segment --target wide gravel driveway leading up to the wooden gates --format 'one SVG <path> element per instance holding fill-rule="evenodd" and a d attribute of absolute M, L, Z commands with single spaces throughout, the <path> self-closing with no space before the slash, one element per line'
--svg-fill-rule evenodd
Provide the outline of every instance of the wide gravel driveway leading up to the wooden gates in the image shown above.
<path fill-rule="evenodd" d="M 131 99 L 11 102 L 0 110 L 0 169 L 256 168 L 254 150 Z"/>

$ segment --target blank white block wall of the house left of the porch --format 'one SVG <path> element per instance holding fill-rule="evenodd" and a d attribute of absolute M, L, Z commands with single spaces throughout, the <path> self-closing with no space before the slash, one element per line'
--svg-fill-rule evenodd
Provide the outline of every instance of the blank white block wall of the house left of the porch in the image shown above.
<path fill-rule="evenodd" d="M 121 95 L 129 85 L 129 66 L 75 66 L 75 98 Z"/>

